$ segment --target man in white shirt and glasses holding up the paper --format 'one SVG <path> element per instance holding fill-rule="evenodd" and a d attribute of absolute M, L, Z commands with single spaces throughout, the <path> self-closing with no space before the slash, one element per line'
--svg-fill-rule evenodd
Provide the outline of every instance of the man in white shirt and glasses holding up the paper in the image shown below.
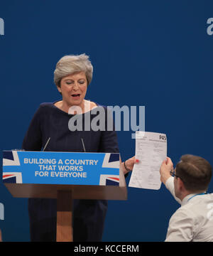
<path fill-rule="evenodd" d="M 206 193 L 212 166 L 200 156 L 184 155 L 173 169 L 170 158 L 160 166 L 160 180 L 181 204 L 170 218 L 166 242 L 213 242 L 213 193 Z"/>

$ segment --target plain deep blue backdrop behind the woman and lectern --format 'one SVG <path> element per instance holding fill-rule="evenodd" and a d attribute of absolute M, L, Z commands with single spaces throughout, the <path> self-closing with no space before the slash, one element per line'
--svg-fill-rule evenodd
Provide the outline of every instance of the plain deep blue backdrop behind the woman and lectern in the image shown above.
<path fill-rule="evenodd" d="M 146 106 L 146 131 L 167 134 L 174 164 L 195 154 L 213 166 L 212 10 L 207 0 L 1 1 L 1 151 L 21 147 L 41 102 L 60 100 L 58 60 L 86 53 L 94 65 L 87 99 Z M 118 132 L 122 159 L 134 154 L 131 133 Z M 178 203 L 164 185 L 128 192 L 128 201 L 109 201 L 103 240 L 163 241 Z M 0 202 L 3 239 L 28 241 L 27 200 L 12 198 L 0 183 Z"/>

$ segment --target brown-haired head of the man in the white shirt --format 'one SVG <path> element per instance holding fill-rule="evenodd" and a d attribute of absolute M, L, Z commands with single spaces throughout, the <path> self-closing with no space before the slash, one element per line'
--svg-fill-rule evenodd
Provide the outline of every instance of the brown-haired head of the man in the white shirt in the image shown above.
<path fill-rule="evenodd" d="M 212 166 L 206 159 L 190 154 L 183 155 L 176 165 L 176 174 L 187 191 L 207 191 L 212 178 Z"/>

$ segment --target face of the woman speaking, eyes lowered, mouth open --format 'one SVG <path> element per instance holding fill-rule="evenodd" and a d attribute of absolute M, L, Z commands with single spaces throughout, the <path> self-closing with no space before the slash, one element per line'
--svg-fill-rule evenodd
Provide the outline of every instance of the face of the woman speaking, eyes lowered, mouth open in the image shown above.
<path fill-rule="evenodd" d="M 87 92 L 87 77 L 85 73 L 82 71 L 62 78 L 58 90 L 62 94 L 63 102 L 68 107 L 75 105 L 83 107 L 84 97 Z"/>

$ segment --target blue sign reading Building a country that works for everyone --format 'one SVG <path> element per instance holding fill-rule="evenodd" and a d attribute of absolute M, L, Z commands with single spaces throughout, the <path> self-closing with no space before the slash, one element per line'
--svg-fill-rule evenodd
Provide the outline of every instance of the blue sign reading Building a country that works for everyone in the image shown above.
<path fill-rule="evenodd" d="M 119 154 L 4 151 L 3 182 L 119 186 Z"/>

